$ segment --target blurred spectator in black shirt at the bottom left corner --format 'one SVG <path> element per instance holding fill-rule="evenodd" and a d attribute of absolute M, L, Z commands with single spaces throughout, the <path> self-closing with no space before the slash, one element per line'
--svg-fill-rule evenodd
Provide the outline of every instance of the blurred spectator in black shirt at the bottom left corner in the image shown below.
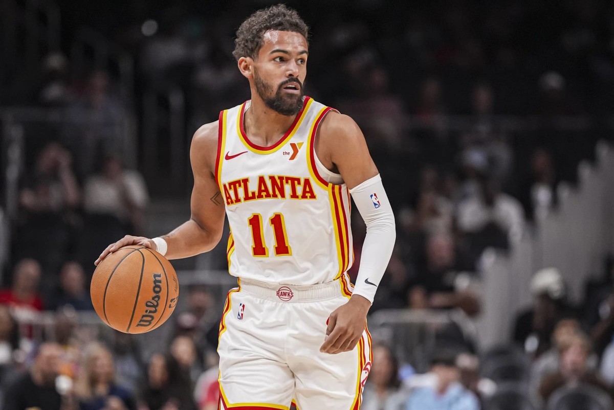
<path fill-rule="evenodd" d="M 30 371 L 7 389 L 2 408 L 4 410 L 64 409 L 63 404 L 68 404 L 68 397 L 63 400 L 55 385 L 60 357 L 60 346 L 55 343 L 42 344 Z"/>

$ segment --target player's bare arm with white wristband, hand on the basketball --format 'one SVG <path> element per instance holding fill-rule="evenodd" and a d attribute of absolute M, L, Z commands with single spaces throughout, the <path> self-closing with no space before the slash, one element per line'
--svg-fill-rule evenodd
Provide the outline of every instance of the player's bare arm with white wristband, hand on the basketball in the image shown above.
<path fill-rule="evenodd" d="M 192 139 L 190 162 L 194 187 L 190 199 L 190 220 L 160 238 L 127 235 L 107 247 L 95 265 L 109 253 L 128 245 L 157 249 L 168 259 L 187 258 L 213 249 L 222 238 L 224 204 L 214 177 L 218 123 L 201 126 Z M 163 249 L 166 247 L 166 250 Z M 161 249 L 162 248 L 162 249 Z"/>

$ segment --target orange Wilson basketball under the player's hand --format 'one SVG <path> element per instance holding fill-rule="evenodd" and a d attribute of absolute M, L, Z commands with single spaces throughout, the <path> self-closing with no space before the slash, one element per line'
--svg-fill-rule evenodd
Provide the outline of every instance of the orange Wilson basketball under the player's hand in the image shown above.
<path fill-rule="evenodd" d="M 123 333 L 146 333 L 173 313 L 179 281 L 171 263 L 143 246 L 107 255 L 91 278 L 91 302 L 104 323 Z"/>

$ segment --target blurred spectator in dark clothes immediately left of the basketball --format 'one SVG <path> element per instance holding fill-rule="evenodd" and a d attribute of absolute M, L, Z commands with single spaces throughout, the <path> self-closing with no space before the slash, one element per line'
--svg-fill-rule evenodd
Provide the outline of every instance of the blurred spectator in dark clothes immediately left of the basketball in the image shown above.
<path fill-rule="evenodd" d="M 64 263 L 60 270 L 60 290 L 56 293 L 51 309 L 70 306 L 76 311 L 93 311 L 90 292 L 85 288 L 85 273 L 77 261 Z"/>

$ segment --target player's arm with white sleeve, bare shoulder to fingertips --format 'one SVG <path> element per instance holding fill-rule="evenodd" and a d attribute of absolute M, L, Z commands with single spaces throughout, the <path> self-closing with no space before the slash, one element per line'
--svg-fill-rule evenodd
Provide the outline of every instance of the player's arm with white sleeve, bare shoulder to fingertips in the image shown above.
<path fill-rule="evenodd" d="M 391 204 L 356 122 L 330 112 L 318 132 L 319 159 L 341 174 L 367 225 L 352 297 L 330 315 L 328 337 L 321 347 L 322 352 L 335 354 L 354 349 L 362 336 L 368 309 L 392 255 L 396 231 Z"/>

